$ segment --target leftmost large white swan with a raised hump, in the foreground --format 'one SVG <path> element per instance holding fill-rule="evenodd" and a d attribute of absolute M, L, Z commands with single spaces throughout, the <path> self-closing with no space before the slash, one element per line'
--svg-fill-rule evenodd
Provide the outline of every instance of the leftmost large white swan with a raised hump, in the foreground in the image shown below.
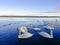
<path fill-rule="evenodd" d="M 33 36 L 33 34 L 29 33 L 26 27 L 19 27 L 18 28 L 19 35 L 18 38 L 30 38 Z"/>

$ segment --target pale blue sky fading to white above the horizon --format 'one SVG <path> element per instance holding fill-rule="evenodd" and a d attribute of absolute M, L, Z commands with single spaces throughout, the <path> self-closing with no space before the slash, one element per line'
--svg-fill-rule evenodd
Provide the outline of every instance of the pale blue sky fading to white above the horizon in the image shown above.
<path fill-rule="evenodd" d="M 0 15 L 60 13 L 60 0 L 0 0 Z"/>

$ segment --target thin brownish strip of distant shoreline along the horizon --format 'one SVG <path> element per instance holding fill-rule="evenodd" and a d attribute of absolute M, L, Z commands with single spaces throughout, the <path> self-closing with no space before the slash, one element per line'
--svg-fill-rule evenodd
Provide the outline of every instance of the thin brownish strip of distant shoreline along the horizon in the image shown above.
<path fill-rule="evenodd" d="M 0 16 L 0 18 L 60 18 L 60 16 Z"/>

